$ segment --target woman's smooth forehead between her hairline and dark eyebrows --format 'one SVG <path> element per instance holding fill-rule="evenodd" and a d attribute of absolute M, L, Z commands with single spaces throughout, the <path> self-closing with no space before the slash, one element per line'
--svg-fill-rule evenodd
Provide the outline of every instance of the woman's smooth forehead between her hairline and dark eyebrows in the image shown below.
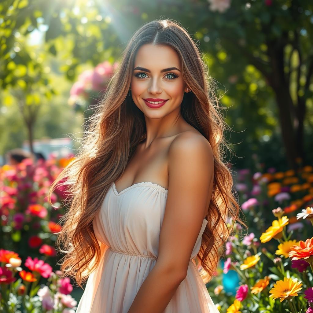
<path fill-rule="evenodd" d="M 169 46 L 144 44 L 135 58 L 134 67 L 141 66 L 147 69 L 180 68 L 180 59 L 177 52 Z"/>

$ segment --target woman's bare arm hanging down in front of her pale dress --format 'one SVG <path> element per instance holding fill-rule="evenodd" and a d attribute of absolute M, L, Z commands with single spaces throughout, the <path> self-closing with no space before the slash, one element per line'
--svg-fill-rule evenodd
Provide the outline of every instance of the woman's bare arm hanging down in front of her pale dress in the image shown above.
<path fill-rule="evenodd" d="M 162 313 L 187 275 L 192 250 L 208 210 L 213 151 L 201 135 L 185 132 L 171 144 L 169 186 L 158 258 L 128 313 Z"/>

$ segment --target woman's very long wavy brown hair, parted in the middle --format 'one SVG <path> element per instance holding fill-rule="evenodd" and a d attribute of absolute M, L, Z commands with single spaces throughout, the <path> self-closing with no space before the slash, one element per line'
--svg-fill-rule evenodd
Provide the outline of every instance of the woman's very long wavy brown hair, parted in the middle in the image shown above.
<path fill-rule="evenodd" d="M 192 92 L 185 93 L 181 114 L 211 144 L 214 153 L 214 184 L 197 255 L 198 269 L 208 282 L 223 254 L 223 244 L 233 232 L 239 218 L 240 206 L 233 190 L 233 178 L 224 148 L 230 148 L 224 138 L 228 127 L 220 113 L 218 98 L 213 91 L 214 80 L 208 74 L 197 45 L 188 32 L 176 21 L 157 19 L 142 25 L 132 36 L 121 62 L 111 77 L 104 97 L 88 120 L 88 130 L 81 139 L 76 158 L 59 174 L 49 190 L 64 185 L 67 207 L 60 222 L 57 247 L 64 254 L 61 259 L 63 277 L 71 276 L 81 285 L 99 265 L 101 249 L 95 237 L 92 221 L 110 185 L 123 174 L 136 147 L 146 138 L 144 114 L 137 108 L 128 91 L 134 60 L 144 44 L 167 45 L 174 49 L 181 61 L 182 77 Z M 229 226 L 229 221 L 233 225 Z M 246 225 L 245 225 L 246 226 Z"/>

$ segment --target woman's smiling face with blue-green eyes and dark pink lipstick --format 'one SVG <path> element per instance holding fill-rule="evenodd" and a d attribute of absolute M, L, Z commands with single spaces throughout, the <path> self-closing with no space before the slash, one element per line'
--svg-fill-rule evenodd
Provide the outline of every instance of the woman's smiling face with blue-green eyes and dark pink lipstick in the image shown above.
<path fill-rule="evenodd" d="M 140 47 L 131 78 L 131 95 L 146 116 L 160 118 L 180 108 L 187 87 L 174 49 L 153 44 Z"/>

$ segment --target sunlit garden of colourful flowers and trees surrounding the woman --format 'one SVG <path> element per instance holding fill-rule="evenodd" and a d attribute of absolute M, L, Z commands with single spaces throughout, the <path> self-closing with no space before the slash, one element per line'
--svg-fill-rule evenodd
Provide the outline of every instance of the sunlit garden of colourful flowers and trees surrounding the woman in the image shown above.
<path fill-rule="evenodd" d="M 0 312 L 75 312 L 83 290 L 61 277 L 56 247 L 68 194 L 56 188 L 51 206 L 49 187 L 127 40 L 160 17 L 199 45 L 232 128 L 225 163 L 248 229 L 227 220 L 212 280 L 195 260 L 216 308 L 313 313 L 313 5 L 282 0 L 0 3 Z M 12 149 L 62 137 L 70 149 L 10 163 Z"/>

